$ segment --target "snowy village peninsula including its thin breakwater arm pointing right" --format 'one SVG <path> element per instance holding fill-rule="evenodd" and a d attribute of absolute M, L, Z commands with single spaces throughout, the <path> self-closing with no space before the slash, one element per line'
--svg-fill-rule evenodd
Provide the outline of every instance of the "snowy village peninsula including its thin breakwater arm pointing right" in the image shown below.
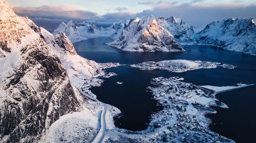
<path fill-rule="evenodd" d="M 208 126 L 211 121 L 205 115 L 216 113 L 212 106 L 227 108 L 227 105 L 215 98 L 217 92 L 245 88 L 253 84 L 241 84 L 238 87 L 197 86 L 183 82 L 183 79 L 182 77 L 152 79 L 153 86 L 147 89 L 164 109 L 152 115 L 147 130 L 131 132 L 114 128 L 106 132 L 103 141 L 234 142 L 210 131 Z"/>

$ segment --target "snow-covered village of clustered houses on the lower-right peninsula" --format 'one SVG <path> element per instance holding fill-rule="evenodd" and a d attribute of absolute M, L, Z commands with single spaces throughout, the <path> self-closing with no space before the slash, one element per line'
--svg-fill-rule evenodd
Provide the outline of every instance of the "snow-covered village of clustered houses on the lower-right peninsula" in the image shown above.
<path fill-rule="evenodd" d="M 206 113 L 215 113 L 210 106 L 226 107 L 214 96 L 214 91 L 182 82 L 181 77 L 152 80 L 155 87 L 148 87 L 163 110 L 152 116 L 151 130 L 166 127 L 157 140 L 168 142 L 232 142 L 209 131 Z"/>

